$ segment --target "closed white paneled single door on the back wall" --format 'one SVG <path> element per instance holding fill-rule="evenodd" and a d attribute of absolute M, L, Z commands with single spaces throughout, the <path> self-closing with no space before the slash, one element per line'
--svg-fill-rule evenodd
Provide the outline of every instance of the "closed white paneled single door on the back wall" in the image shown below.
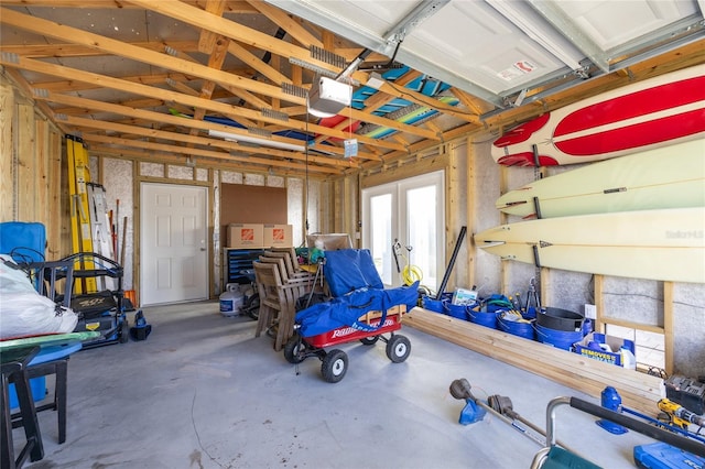
<path fill-rule="evenodd" d="M 208 189 L 142 183 L 142 305 L 208 298 Z"/>

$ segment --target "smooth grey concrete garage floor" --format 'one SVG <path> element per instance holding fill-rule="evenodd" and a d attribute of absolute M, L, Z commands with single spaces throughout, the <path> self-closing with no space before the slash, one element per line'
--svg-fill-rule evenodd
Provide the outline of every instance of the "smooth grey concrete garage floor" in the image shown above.
<path fill-rule="evenodd" d="M 511 399 L 523 418 L 545 426 L 555 396 L 587 395 L 404 327 L 411 356 L 392 363 L 384 343 L 340 346 L 347 375 L 330 384 L 321 362 L 296 367 L 254 338 L 254 321 L 226 318 L 217 302 L 143 309 L 144 341 L 75 353 L 69 362 L 67 439 L 56 414 L 40 414 L 45 457 L 31 468 L 528 468 L 540 446 L 497 417 L 463 426 L 465 402 Z M 132 319 L 132 314 L 130 314 Z M 615 436 L 570 407 L 557 437 L 605 468 L 634 467 L 632 449 L 651 443 Z M 14 430 L 15 443 L 23 438 Z"/>

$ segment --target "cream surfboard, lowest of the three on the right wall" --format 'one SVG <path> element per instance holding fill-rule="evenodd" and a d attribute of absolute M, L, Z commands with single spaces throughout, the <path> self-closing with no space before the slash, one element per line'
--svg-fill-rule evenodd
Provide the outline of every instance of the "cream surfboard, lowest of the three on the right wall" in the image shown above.
<path fill-rule="evenodd" d="M 520 221 L 474 241 L 502 259 L 544 268 L 705 283 L 705 207 Z"/>

